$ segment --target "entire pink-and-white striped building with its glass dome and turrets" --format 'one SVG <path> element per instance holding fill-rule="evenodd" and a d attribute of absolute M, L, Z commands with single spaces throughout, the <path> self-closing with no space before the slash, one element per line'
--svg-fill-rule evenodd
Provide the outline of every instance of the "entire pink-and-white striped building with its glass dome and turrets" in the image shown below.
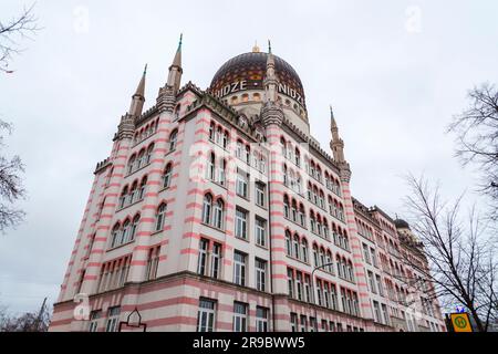
<path fill-rule="evenodd" d="M 181 42 L 145 113 L 145 73 L 95 170 L 51 331 L 444 331 L 400 274 L 407 225 L 366 208 L 332 113 L 330 156 L 304 88 L 258 48 L 201 91 Z M 76 301 L 74 300 L 76 299 Z"/>

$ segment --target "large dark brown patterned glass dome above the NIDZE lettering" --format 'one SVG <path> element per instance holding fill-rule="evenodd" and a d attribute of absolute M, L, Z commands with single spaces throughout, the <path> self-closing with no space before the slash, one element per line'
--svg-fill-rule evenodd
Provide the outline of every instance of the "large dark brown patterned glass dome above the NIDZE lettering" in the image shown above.
<path fill-rule="evenodd" d="M 250 52 L 240 54 L 226 62 L 215 74 L 210 90 L 222 92 L 229 84 L 245 82 L 245 90 L 264 90 L 263 80 L 267 72 L 268 53 Z M 274 56 L 276 72 L 281 84 L 298 95 L 290 95 L 305 108 L 304 87 L 295 70 L 283 59 Z M 231 92 L 229 92 L 231 93 Z M 226 94 L 221 94 L 225 96 Z"/>

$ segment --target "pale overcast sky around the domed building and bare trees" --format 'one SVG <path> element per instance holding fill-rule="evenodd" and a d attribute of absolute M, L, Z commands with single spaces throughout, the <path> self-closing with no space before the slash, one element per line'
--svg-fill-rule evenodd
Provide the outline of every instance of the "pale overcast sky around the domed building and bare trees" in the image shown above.
<path fill-rule="evenodd" d="M 22 2 L 1 0 L 1 20 Z M 403 215 L 407 171 L 442 180 L 448 197 L 473 188 L 444 132 L 468 88 L 498 82 L 497 1 L 39 0 L 35 12 L 43 30 L 0 75 L 0 117 L 15 127 L 8 152 L 25 163 L 29 192 L 25 223 L 0 236 L 0 304 L 12 312 L 56 300 L 95 164 L 145 63 L 155 102 L 180 32 L 184 83 L 201 88 L 270 38 L 303 81 L 324 148 L 334 105 L 364 204 Z"/>

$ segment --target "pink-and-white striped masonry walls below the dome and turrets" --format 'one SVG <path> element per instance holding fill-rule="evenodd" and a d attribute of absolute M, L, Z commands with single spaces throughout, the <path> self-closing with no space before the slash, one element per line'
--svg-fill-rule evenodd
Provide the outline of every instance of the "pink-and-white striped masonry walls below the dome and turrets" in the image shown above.
<path fill-rule="evenodd" d="M 240 124 L 241 106 L 230 107 L 191 84 L 173 98 L 169 108 L 158 100 L 136 117 L 133 134 L 116 135 L 111 156 L 97 165 L 50 331 L 115 330 L 110 325 L 112 312 L 117 321 L 126 321 L 135 309 L 147 331 L 196 331 L 201 300 L 215 304 L 214 331 L 234 331 L 236 303 L 247 309 L 247 331 L 258 330 L 261 310 L 268 331 L 411 330 L 400 314 L 407 313 L 406 306 L 369 287 L 369 271 L 381 279 L 391 275 L 366 262 L 363 243 L 383 252 L 387 261 L 395 256 L 383 251 L 375 238 L 362 236 L 357 222 L 362 220 L 378 235 L 384 229 L 373 212 L 357 208 L 350 176 L 344 176 L 309 132 L 292 123 L 299 115 L 284 110 L 281 125 L 263 126 L 248 116 L 243 118 L 249 124 Z M 261 103 L 252 106 L 260 110 Z M 129 169 L 141 154 L 143 164 Z M 212 155 L 215 178 L 210 175 Z M 241 173 L 248 176 L 246 196 L 237 192 Z M 262 205 L 257 202 L 257 185 L 263 190 Z M 136 195 L 123 205 L 125 190 Z M 210 220 L 215 204 L 222 205 L 219 225 L 206 220 L 207 195 L 212 200 Z M 246 237 L 236 231 L 237 210 L 246 216 Z M 383 225 L 391 226 L 388 236 L 398 244 L 394 221 L 382 210 L 375 212 Z M 258 244 L 257 220 L 264 226 L 264 244 Z M 126 225 L 126 241 L 116 244 L 115 230 Z M 321 250 L 324 257 L 332 256 L 330 269 L 315 269 L 313 249 L 319 262 Z M 206 271 L 199 273 L 201 253 Z M 236 263 L 240 263 L 237 254 L 243 254 L 243 285 L 235 277 Z M 216 274 L 215 256 L 219 256 Z M 261 262 L 266 264 L 263 275 L 257 273 Z M 376 315 L 373 301 L 381 312 L 382 304 L 386 306 L 387 316 Z M 75 309 L 83 316 L 77 311 L 75 315 Z M 394 315 L 398 322 L 393 321 Z M 444 330 L 438 309 L 432 316 L 421 316 L 424 323 L 435 325 L 421 326 Z"/>

